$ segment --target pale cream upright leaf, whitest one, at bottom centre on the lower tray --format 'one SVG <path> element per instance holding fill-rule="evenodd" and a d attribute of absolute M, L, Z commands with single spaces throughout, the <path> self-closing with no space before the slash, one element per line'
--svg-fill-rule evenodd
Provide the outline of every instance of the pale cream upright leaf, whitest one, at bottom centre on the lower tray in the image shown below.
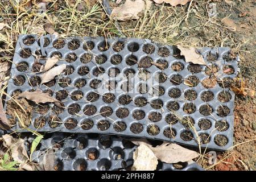
<path fill-rule="evenodd" d="M 145 144 L 141 144 L 133 153 L 132 171 L 154 171 L 158 165 L 158 159 Z"/>

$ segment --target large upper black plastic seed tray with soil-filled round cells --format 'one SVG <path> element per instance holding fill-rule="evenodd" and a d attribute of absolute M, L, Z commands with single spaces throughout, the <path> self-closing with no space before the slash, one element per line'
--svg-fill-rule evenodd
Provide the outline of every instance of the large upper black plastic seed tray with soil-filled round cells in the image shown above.
<path fill-rule="evenodd" d="M 8 93 L 40 89 L 63 103 L 33 106 L 32 123 L 26 123 L 32 130 L 200 142 L 226 150 L 233 144 L 230 85 L 238 57 L 231 59 L 229 48 L 197 51 L 207 66 L 186 63 L 174 46 L 147 39 L 20 35 Z M 35 63 L 35 57 L 52 56 L 60 59 L 56 66 L 67 68 L 40 84 L 45 60 Z M 13 129 L 22 131 L 20 126 Z"/>

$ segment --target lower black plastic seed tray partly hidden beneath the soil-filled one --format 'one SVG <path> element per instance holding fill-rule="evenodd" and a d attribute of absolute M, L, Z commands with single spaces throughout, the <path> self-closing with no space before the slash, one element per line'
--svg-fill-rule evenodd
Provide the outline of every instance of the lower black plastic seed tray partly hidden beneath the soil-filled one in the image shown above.
<path fill-rule="evenodd" d="M 27 148 L 30 148 L 34 139 L 35 137 L 30 137 L 26 140 Z M 37 150 L 32 154 L 32 159 L 43 166 L 46 152 L 53 149 L 55 170 L 126 170 L 133 165 L 133 152 L 136 148 L 137 146 L 129 140 L 110 135 L 78 134 L 68 137 L 63 133 L 53 133 L 48 134 L 47 139 L 41 140 Z M 181 165 L 159 162 L 157 170 L 202 171 L 204 169 L 196 163 Z"/>

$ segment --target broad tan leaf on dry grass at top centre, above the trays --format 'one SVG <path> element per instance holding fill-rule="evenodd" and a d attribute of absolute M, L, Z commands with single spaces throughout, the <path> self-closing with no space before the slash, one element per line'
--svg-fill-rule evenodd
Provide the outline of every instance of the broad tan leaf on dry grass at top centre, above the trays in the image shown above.
<path fill-rule="evenodd" d="M 126 0 L 120 7 L 115 7 L 110 16 L 121 21 L 139 19 L 139 14 L 150 9 L 151 3 L 148 0 Z"/>

